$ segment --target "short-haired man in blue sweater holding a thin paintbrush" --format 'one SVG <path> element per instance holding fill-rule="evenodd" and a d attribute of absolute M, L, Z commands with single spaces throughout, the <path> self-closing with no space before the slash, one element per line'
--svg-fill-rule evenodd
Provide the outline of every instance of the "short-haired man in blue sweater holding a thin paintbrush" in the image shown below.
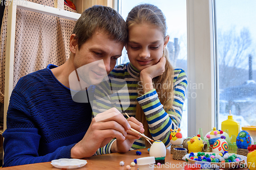
<path fill-rule="evenodd" d="M 126 120 L 115 108 L 92 119 L 90 103 L 75 102 L 71 95 L 84 90 L 78 87 L 92 91 L 90 85 L 109 74 L 126 37 L 125 21 L 112 8 L 94 6 L 82 13 L 70 37 L 69 60 L 21 78 L 13 89 L 3 133 L 3 167 L 129 151 L 140 137 L 130 128 L 143 133 L 141 123 L 133 117 Z M 77 87 L 71 87 L 74 72 Z"/>

